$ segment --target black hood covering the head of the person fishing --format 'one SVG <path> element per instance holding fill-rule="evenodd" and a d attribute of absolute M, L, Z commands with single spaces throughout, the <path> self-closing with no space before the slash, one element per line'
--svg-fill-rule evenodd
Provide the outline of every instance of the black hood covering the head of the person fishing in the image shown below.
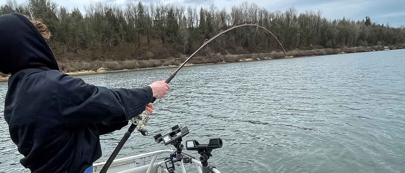
<path fill-rule="evenodd" d="M 48 43 L 25 16 L 0 16 L 0 72 L 15 74 L 23 69 L 46 67 L 59 70 Z"/>

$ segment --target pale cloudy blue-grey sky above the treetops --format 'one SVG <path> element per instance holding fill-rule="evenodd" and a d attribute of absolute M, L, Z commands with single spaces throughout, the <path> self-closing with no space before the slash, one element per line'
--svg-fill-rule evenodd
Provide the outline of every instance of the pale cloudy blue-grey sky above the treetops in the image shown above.
<path fill-rule="evenodd" d="M 17 0 L 19 3 L 27 0 Z M 83 6 L 94 2 L 107 2 L 111 4 L 125 5 L 132 0 L 53 0 L 68 9 L 78 7 L 84 13 Z M 185 6 L 209 7 L 215 4 L 217 8 L 230 10 L 233 5 L 239 5 L 246 0 L 143 0 L 144 3 L 170 3 Z M 137 0 L 136 0 L 137 2 Z M 390 23 L 393 27 L 405 25 L 405 1 L 404 0 L 249 0 L 268 10 L 286 10 L 294 6 L 298 12 L 306 10 L 322 11 L 322 15 L 328 19 L 338 19 L 345 16 L 353 20 L 371 17 L 376 23 Z M 0 0 L 0 4 L 6 4 L 6 0 Z"/>

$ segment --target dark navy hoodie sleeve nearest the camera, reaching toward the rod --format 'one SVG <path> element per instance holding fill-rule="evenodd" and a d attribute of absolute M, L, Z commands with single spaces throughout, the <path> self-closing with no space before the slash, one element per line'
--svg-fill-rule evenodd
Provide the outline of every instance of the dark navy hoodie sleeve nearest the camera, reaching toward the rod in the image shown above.
<path fill-rule="evenodd" d="M 58 79 L 57 93 L 61 120 L 66 125 L 96 123 L 108 126 L 120 123 L 118 129 L 122 128 L 124 121 L 141 114 L 153 99 L 149 86 L 108 89 L 89 85 L 80 78 L 66 74 Z"/>

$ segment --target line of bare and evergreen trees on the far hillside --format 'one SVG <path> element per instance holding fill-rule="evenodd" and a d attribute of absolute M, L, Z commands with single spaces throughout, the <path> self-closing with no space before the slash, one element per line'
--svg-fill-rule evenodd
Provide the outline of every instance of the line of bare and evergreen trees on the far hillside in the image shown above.
<path fill-rule="evenodd" d="M 295 8 L 269 11 L 244 2 L 230 11 L 172 4 L 129 2 L 126 6 L 96 3 L 85 13 L 49 0 L 8 0 L 0 15 L 19 12 L 31 19 L 43 19 L 49 40 L 63 58 L 78 56 L 89 60 L 128 60 L 188 55 L 205 39 L 234 25 L 257 23 L 272 31 L 287 50 L 340 48 L 343 46 L 403 46 L 405 27 L 373 23 L 370 17 L 354 21 L 326 19 L 322 12 L 298 13 Z M 200 55 L 242 54 L 280 50 L 277 42 L 260 29 L 241 28 L 221 36 Z M 108 56 L 107 56 L 108 55 Z M 60 60 L 60 59 L 58 59 Z M 63 60 L 63 59 L 62 59 Z"/>

